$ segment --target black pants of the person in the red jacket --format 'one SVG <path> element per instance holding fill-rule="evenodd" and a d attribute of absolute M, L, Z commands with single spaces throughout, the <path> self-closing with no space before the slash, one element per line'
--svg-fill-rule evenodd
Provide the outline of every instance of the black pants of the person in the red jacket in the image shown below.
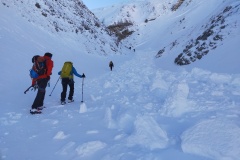
<path fill-rule="evenodd" d="M 34 108 L 37 109 L 38 107 L 43 106 L 47 83 L 48 83 L 48 78 L 42 78 L 37 80 L 38 92 L 35 97 L 35 100 L 33 101 L 32 109 Z"/>

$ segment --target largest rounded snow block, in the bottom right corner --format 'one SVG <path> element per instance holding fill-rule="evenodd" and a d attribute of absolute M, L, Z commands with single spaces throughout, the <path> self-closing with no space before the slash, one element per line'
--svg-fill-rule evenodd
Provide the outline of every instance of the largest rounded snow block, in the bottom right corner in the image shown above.
<path fill-rule="evenodd" d="M 182 134 L 182 150 L 217 160 L 236 160 L 240 157 L 239 135 L 240 128 L 231 122 L 204 120 Z"/>

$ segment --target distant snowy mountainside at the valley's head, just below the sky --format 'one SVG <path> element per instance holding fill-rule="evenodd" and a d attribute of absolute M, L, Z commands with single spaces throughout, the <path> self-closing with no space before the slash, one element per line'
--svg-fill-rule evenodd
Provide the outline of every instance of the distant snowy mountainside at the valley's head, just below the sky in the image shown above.
<path fill-rule="evenodd" d="M 93 13 L 106 25 L 129 20 L 138 25 L 170 12 L 175 0 L 133 0 L 132 2 L 94 9 Z"/>

